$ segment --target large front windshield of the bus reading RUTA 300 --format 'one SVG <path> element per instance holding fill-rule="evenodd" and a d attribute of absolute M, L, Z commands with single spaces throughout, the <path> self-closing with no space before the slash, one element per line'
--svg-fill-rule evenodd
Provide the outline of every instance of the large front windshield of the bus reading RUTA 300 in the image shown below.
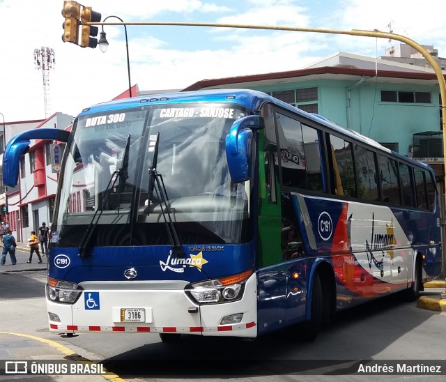
<path fill-rule="evenodd" d="M 200 103 L 79 116 L 64 155 L 53 245 L 77 246 L 92 224 L 92 246 L 167 245 L 164 206 L 183 244 L 247 242 L 253 182 L 231 183 L 225 153 L 233 121 L 247 114 Z M 150 189 L 155 162 L 165 204 Z"/>

